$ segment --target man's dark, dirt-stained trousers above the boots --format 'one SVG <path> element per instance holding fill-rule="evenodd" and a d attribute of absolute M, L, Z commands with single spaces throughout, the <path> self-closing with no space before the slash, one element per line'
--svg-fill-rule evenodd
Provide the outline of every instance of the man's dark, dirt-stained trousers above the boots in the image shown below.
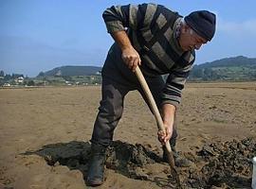
<path fill-rule="evenodd" d="M 160 94 L 165 82 L 161 76 L 145 78 L 159 109 Z M 148 100 L 142 91 L 136 75 L 128 69 L 123 61 L 108 56 L 102 68 L 102 96 L 99 112 L 94 124 L 92 143 L 103 146 L 110 145 L 113 140 L 114 130 L 117 128 L 123 112 L 124 96 L 129 91 L 134 90 L 137 90 L 148 104 Z M 177 132 L 174 129 L 171 141 L 175 141 L 176 137 Z"/>

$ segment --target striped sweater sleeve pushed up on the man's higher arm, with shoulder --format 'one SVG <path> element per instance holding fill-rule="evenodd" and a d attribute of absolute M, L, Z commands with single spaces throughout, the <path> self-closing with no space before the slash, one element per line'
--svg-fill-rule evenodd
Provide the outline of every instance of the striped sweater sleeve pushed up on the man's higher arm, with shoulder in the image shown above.
<path fill-rule="evenodd" d="M 154 13 L 156 8 L 155 4 L 112 6 L 103 12 L 102 17 L 108 33 L 122 31 L 126 27 L 137 30 L 150 26 L 153 17 L 150 13 Z"/>

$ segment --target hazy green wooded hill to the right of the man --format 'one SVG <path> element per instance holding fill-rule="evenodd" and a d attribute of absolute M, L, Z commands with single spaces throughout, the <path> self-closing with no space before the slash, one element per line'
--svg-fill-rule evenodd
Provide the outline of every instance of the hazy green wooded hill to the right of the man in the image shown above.
<path fill-rule="evenodd" d="M 194 65 L 189 80 L 256 80 L 256 59 L 239 56 Z"/>

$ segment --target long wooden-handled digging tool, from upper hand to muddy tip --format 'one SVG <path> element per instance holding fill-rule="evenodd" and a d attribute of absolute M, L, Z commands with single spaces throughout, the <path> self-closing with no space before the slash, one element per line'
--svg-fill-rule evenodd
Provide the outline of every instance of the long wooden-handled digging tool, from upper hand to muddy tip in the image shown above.
<path fill-rule="evenodd" d="M 137 76 L 137 79 L 144 91 L 144 93 L 146 94 L 147 98 L 148 98 L 148 101 L 149 101 L 149 104 L 151 106 L 151 109 L 155 115 L 155 120 L 156 120 L 156 123 L 157 123 L 157 127 L 159 130 L 162 130 L 165 132 L 165 128 L 164 128 L 164 125 L 163 125 L 163 120 L 162 120 L 162 117 L 160 115 L 160 112 L 158 111 L 157 109 L 157 106 L 155 104 L 155 99 L 149 89 L 149 86 L 145 80 L 145 77 L 143 77 L 139 67 L 137 66 L 136 68 L 136 72 L 135 72 L 136 76 Z M 176 171 L 176 168 L 175 168 L 175 164 L 174 164 L 174 153 L 172 151 L 172 148 L 170 146 L 170 143 L 169 141 L 167 141 L 167 143 L 165 144 L 165 147 L 168 151 L 168 163 L 170 164 L 170 167 L 171 167 L 171 174 L 172 176 L 174 177 L 174 179 L 176 180 L 177 182 L 177 185 L 178 185 L 178 188 L 181 188 L 181 185 L 180 185 L 180 180 L 179 180 L 179 176 L 177 174 L 177 171 Z"/>

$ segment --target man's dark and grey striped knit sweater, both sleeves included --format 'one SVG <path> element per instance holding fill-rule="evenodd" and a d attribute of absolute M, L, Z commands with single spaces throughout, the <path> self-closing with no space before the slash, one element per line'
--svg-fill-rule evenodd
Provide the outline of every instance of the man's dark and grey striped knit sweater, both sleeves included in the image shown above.
<path fill-rule="evenodd" d="M 106 9 L 102 16 L 109 33 L 127 30 L 131 43 L 140 55 L 144 75 L 169 74 L 162 93 L 162 103 L 177 106 L 195 58 L 194 51 L 182 51 L 175 37 L 181 16 L 155 4 L 113 6 Z M 155 34 L 172 20 L 172 25 L 157 36 L 155 43 L 148 46 Z"/>

